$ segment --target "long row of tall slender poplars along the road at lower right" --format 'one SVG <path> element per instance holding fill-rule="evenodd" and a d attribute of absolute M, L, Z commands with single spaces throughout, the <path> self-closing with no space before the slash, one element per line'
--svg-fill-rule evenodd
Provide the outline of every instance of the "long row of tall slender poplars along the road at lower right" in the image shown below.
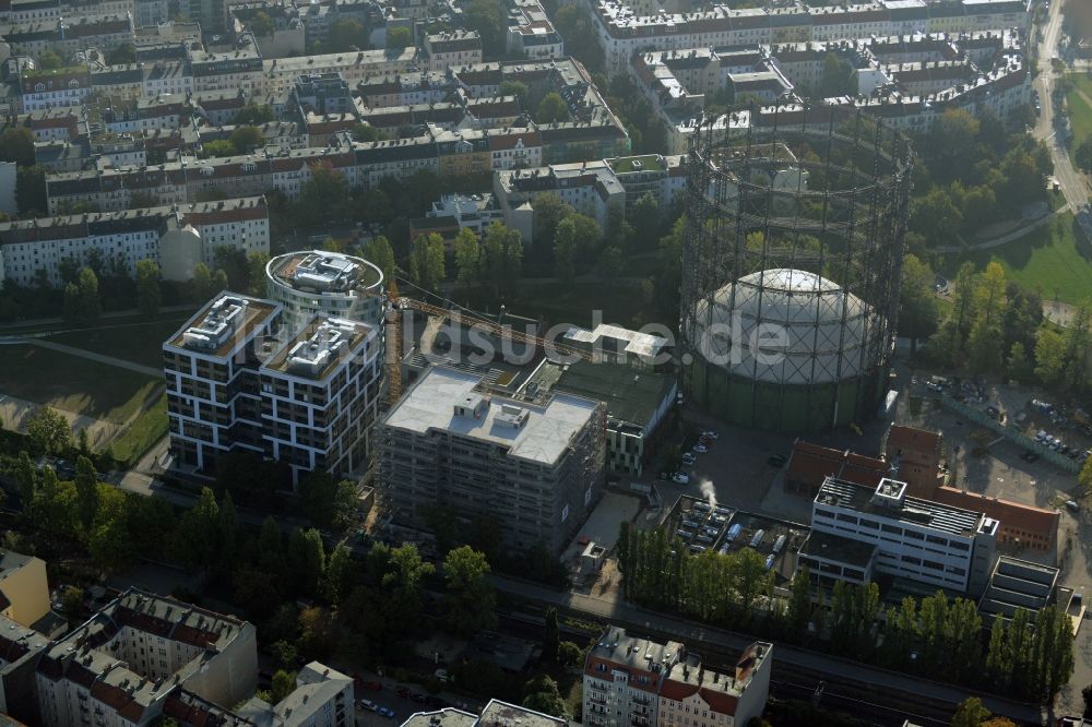
<path fill-rule="evenodd" d="M 1072 674 L 1072 625 L 1053 606 L 1035 617 L 1021 609 L 1008 623 L 996 620 L 984 651 L 974 601 L 941 592 L 885 610 L 875 583 L 838 582 L 827 597 L 800 568 L 783 599 L 751 548 L 691 556 L 663 528 L 629 523 L 617 555 L 627 599 L 705 623 L 753 627 L 797 644 L 818 641 L 834 654 L 1029 700 L 1053 699 Z"/>

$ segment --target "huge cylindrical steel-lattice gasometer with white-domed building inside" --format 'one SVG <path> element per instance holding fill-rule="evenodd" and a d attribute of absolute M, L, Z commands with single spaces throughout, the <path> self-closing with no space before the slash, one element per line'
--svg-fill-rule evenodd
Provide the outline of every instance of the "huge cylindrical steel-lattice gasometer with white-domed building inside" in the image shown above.
<path fill-rule="evenodd" d="M 695 134 L 682 252 L 682 386 L 763 429 L 874 416 L 887 391 L 912 156 L 829 107 Z"/>

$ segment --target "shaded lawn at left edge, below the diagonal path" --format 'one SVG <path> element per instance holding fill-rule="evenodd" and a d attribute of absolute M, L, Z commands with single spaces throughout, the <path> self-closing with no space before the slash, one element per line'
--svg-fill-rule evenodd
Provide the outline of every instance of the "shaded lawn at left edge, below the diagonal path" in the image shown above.
<path fill-rule="evenodd" d="M 0 393 L 117 424 L 163 388 L 157 377 L 37 346 L 3 346 L 0 356 Z"/>

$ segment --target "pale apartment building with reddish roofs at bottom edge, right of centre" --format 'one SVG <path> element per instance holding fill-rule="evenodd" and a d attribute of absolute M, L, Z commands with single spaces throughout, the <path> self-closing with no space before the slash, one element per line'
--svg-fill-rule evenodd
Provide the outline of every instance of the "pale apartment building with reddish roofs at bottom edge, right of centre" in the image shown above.
<path fill-rule="evenodd" d="M 770 695 L 773 645 L 744 649 L 732 674 L 705 669 L 678 642 L 658 644 L 607 627 L 584 663 L 591 727 L 745 727 Z"/>

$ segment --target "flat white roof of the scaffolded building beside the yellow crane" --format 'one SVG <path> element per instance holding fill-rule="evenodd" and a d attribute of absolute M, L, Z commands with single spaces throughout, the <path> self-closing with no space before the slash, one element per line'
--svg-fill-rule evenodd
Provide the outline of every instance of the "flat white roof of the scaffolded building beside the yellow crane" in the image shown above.
<path fill-rule="evenodd" d="M 476 373 L 434 366 L 387 416 L 387 425 L 418 433 L 442 429 L 508 446 L 512 456 L 554 464 L 598 406 L 596 402 L 561 393 L 555 394 L 546 406 L 494 396 L 480 418 L 456 415 L 455 405 L 474 398 L 474 388 L 480 381 Z M 507 424 L 502 405 L 525 410 L 526 421 L 520 427 Z"/>

